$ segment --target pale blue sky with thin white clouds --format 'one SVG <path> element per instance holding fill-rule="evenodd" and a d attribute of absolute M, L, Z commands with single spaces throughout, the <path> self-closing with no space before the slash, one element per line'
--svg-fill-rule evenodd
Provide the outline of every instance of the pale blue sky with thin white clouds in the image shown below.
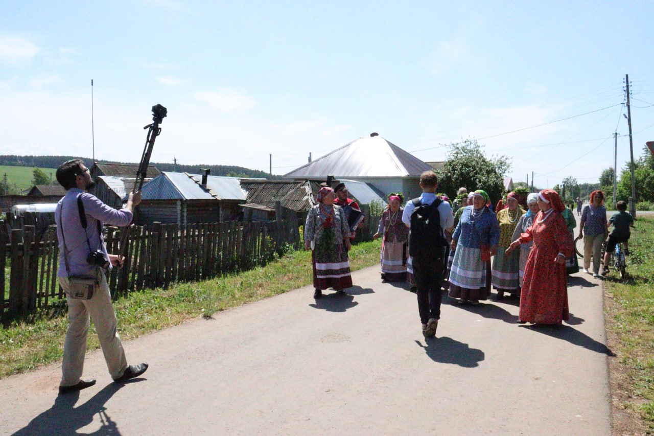
<path fill-rule="evenodd" d="M 0 154 L 91 156 L 91 79 L 112 160 L 139 160 L 161 103 L 156 162 L 272 153 L 282 174 L 379 132 L 426 161 L 478 138 L 516 181 L 594 182 L 616 128 L 629 156 L 625 73 L 634 154 L 654 140 L 649 1 L 60 3 L 0 6 Z"/>

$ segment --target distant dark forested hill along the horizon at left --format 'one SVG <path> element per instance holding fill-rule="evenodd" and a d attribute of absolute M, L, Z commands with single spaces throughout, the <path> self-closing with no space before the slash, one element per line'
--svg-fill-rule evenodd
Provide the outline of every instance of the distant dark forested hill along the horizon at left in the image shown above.
<path fill-rule="evenodd" d="M 62 162 L 71 159 L 82 159 L 87 165 L 93 162 L 92 158 L 85 158 L 80 156 L 16 156 L 15 154 L 0 155 L 0 165 L 9 166 L 29 166 L 31 168 L 57 168 Z M 112 160 L 98 160 L 98 162 L 106 162 L 112 164 L 138 164 L 139 162 L 115 162 Z M 150 162 L 162 171 L 175 171 L 175 164 Z M 259 170 L 250 170 L 242 166 L 231 165 L 177 165 L 177 172 L 186 173 L 200 173 L 201 168 L 211 168 L 211 175 L 231 175 L 241 177 L 257 177 L 260 179 L 269 179 L 270 175 L 266 172 Z M 281 179 L 280 175 L 274 175 L 273 179 Z"/>

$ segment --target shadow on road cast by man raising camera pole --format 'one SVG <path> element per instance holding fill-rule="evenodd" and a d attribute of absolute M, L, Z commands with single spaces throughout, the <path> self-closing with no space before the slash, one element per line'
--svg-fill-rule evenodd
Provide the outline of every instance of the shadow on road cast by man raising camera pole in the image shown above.
<path fill-rule="evenodd" d="M 79 399 L 79 391 L 58 395 L 50 409 L 31 420 L 14 435 L 80 434 L 77 430 L 91 424 L 95 414 L 100 416 L 101 427 L 94 433 L 88 433 L 89 435 L 120 435 L 118 424 L 112 420 L 105 403 L 123 386 L 142 380 L 146 378 L 133 378 L 125 383 L 110 383 L 78 407 L 75 407 L 75 403 Z"/>

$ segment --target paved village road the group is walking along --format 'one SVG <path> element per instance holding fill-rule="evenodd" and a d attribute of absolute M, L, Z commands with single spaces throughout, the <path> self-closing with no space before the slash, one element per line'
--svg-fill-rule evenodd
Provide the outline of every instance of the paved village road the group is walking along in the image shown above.
<path fill-rule="evenodd" d="M 558 328 L 517 325 L 517 300 L 444 296 L 432 340 L 415 294 L 377 266 L 353 278 L 346 297 L 305 287 L 126 342 L 150 369 L 122 387 L 100 352 L 78 395 L 58 397 L 60 365 L 0 380 L 0 434 L 610 434 L 592 276 L 571 278 Z"/>

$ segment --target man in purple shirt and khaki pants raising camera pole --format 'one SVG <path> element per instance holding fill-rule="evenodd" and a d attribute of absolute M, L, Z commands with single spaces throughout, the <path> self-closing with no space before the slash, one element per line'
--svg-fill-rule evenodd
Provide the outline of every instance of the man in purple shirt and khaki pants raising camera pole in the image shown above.
<path fill-rule="evenodd" d="M 128 365 L 116 332 L 116 313 L 111 304 L 105 270 L 121 266 L 120 256 L 107 253 L 102 236 L 103 223 L 128 226 L 141 193 L 129 194 L 122 210 L 116 210 L 88 193 L 95 186 L 91 174 L 79 159 L 64 162 L 57 169 L 57 181 L 66 189 L 55 211 L 59 240 L 57 276 L 68 303 L 68 330 L 63 344 L 59 393 L 93 386 L 94 379 L 82 380 L 89 316 L 114 382 L 122 383 L 148 369 L 147 363 Z"/>

